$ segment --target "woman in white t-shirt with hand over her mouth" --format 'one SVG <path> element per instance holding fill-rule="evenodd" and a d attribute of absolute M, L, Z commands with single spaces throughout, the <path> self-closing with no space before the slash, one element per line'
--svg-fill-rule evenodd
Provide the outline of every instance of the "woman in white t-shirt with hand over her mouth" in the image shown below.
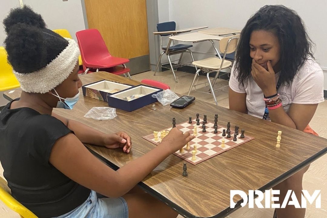
<path fill-rule="evenodd" d="M 323 102 L 323 72 L 299 15 L 279 5 L 264 6 L 246 23 L 229 82 L 230 109 L 315 133 L 309 126 Z M 273 189 L 282 204 L 287 190 L 300 201 L 306 167 Z M 277 213 L 277 215 L 276 215 Z M 286 206 L 275 217 L 303 218 L 305 209 Z"/>

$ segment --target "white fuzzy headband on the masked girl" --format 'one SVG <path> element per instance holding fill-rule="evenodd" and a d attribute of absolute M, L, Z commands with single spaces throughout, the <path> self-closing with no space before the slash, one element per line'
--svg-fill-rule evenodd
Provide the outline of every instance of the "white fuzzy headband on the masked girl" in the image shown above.
<path fill-rule="evenodd" d="M 68 46 L 41 70 L 21 74 L 13 70 L 24 92 L 46 93 L 67 79 L 75 68 L 79 48 L 75 40 L 65 38 Z"/>

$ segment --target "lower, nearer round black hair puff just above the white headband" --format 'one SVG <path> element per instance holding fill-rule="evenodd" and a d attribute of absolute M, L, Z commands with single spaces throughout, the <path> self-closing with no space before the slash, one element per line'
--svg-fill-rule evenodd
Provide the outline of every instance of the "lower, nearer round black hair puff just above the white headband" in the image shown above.
<path fill-rule="evenodd" d="M 42 29 L 18 23 L 11 26 L 5 40 L 8 61 L 15 71 L 30 73 L 48 63 Z"/>

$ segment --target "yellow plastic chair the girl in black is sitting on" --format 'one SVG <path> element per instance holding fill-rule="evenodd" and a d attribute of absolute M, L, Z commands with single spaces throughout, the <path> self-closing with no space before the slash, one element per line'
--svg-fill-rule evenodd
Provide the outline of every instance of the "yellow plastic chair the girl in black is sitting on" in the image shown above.
<path fill-rule="evenodd" d="M 0 177 L 0 200 L 3 201 L 11 210 L 18 213 L 21 218 L 38 218 L 34 213 L 11 196 L 7 181 L 2 177 Z"/>

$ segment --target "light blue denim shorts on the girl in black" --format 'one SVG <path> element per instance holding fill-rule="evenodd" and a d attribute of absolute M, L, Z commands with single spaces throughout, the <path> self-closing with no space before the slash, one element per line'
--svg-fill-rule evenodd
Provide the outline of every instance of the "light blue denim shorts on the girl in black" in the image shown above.
<path fill-rule="evenodd" d="M 98 197 L 91 191 L 84 203 L 56 218 L 128 218 L 128 207 L 122 197 Z"/>

